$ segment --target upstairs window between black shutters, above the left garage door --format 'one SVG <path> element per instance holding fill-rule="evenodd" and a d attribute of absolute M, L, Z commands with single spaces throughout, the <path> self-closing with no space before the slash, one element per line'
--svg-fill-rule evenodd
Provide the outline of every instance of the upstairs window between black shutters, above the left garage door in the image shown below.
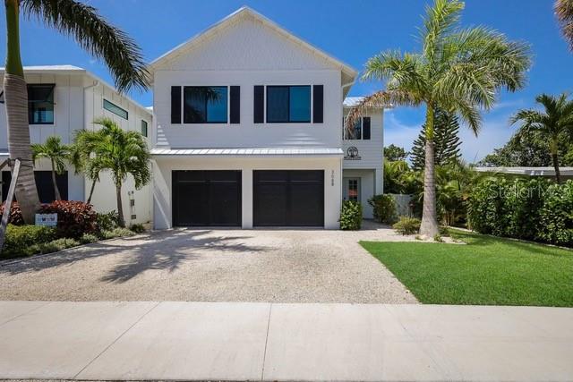
<path fill-rule="evenodd" d="M 184 123 L 227 123 L 226 86 L 184 86 Z"/>

